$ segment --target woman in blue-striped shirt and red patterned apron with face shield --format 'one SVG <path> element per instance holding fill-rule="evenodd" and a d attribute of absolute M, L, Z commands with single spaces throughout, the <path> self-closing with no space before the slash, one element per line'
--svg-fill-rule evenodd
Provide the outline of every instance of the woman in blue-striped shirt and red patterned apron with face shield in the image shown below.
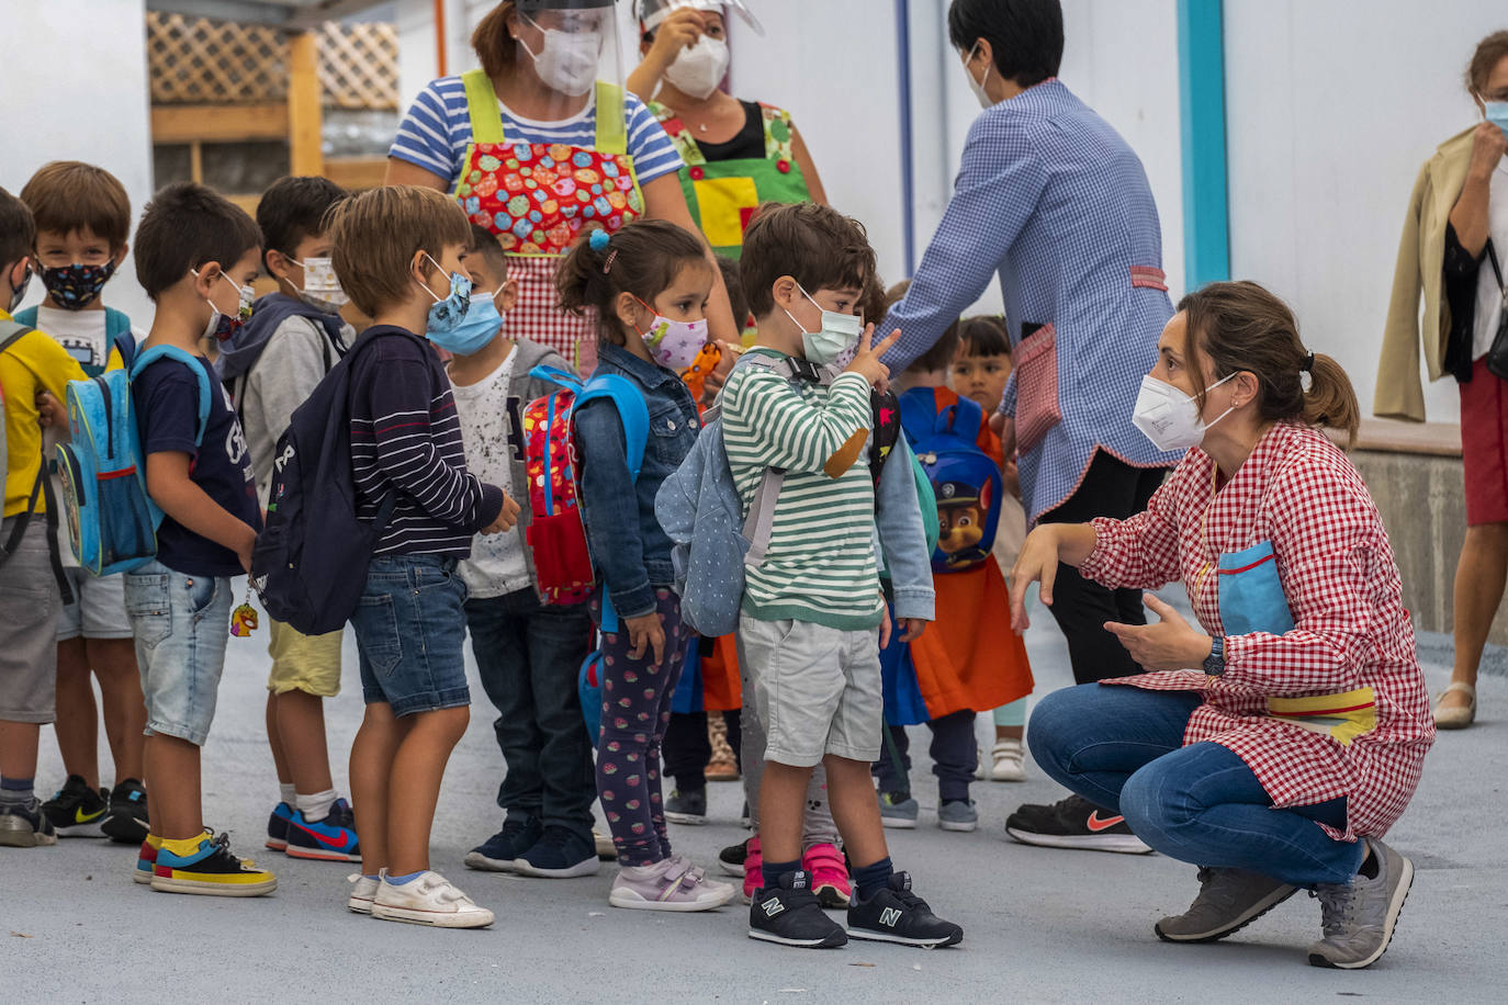
<path fill-rule="evenodd" d="M 559 309 L 561 256 L 588 231 L 615 234 L 638 217 L 700 234 L 680 155 L 623 87 L 612 3 L 499 3 L 472 33 L 481 68 L 430 81 L 388 151 L 389 185 L 452 194 L 498 235 L 519 289 L 508 334 L 582 371 L 596 365 L 594 321 Z M 721 273 L 707 321 L 713 339 L 737 339 Z"/>

